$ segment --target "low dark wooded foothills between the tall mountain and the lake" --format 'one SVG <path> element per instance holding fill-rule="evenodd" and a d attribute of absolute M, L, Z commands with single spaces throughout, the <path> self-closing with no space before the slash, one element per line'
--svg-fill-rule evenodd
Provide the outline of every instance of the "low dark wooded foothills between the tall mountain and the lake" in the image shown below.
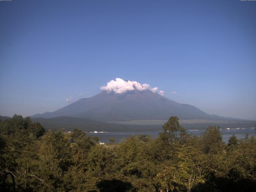
<path fill-rule="evenodd" d="M 94 120 L 88 120 L 83 118 L 75 118 L 75 117 L 54 117 L 54 118 L 31 118 L 32 122 L 40 122 L 42 126 L 46 129 L 50 130 L 67 130 L 71 131 L 74 128 L 79 128 L 84 131 L 125 131 L 125 132 L 133 132 L 133 131 L 161 131 L 162 125 L 166 120 L 160 120 L 157 124 L 118 124 L 118 123 L 106 123 L 106 122 L 98 122 Z M 136 121 L 136 120 L 134 120 Z M 140 120 L 138 120 L 140 121 Z M 198 122 L 198 123 L 197 123 Z M 129 122 L 128 122 L 129 123 Z M 180 120 L 180 124 L 186 129 L 205 129 L 208 126 L 216 125 L 222 128 L 237 128 L 237 127 L 252 127 L 255 125 L 255 121 L 233 121 L 233 120 L 218 120 L 216 121 L 190 121 L 190 120 Z"/>

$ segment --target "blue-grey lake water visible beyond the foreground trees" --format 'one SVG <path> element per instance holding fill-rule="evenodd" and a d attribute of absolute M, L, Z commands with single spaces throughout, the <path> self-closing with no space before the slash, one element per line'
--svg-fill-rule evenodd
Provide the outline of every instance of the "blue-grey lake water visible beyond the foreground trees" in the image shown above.
<path fill-rule="evenodd" d="M 196 136 L 200 136 L 204 130 L 198 130 L 198 131 L 187 131 L 188 133 L 194 134 Z M 228 139 L 233 134 L 238 138 L 244 138 L 244 136 L 248 133 L 249 137 L 254 135 L 256 137 L 256 130 L 255 129 L 244 129 L 244 130 L 221 130 L 222 134 L 222 140 L 224 142 L 228 142 Z M 151 135 L 151 138 L 156 138 L 159 135 L 159 131 L 142 131 L 142 132 L 108 132 L 108 133 L 89 133 L 87 132 L 91 137 L 97 136 L 100 138 L 101 142 L 109 143 L 109 138 L 115 138 L 116 142 L 120 142 L 125 138 L 128 138 L 132 135 L 140 135 L 140 134 L 148 134 Z"/>

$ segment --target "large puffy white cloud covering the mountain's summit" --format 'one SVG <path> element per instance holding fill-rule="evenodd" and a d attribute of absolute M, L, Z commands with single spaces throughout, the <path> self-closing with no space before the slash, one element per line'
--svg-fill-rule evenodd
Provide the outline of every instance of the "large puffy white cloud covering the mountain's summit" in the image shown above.
<path fill-rule="evenodd" d="M 121 78 L 116 78 L 116 80 L 111 80 L 110 82 L 107 83 L 106 86 L 101 86 L 101 90 L 105 90 L 108 92 L 114 92 L 117 94 L 122 94 L 125 93 L 126 91 L 132 91 L 132 90 L 139 90 L 139 91 L 144 91 L 144 90 L 150 90 L 154 93 L 164 95 L 164 91 L 159 91 L 157 87 L 151 87 L 149 84 L 140 84 L 137 81 L 125 81 L 122 80 Z"/>

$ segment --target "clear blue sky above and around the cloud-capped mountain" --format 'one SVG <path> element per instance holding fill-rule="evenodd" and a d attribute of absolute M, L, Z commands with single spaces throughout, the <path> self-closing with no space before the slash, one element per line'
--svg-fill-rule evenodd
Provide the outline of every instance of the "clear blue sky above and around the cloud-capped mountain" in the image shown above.
<path fill-rule="evenodd" d="M 52 112 L 115 78 L 256 120 L 256 1 L 0 1 L 0 115 Z"/>

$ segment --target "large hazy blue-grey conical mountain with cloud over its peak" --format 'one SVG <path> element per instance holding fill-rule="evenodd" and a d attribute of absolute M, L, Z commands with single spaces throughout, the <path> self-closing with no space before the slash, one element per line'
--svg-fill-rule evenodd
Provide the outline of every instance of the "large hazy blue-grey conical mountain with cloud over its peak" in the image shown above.
<path fill-rule="evenodd" d="M 90 98 L 80 99 L 54 112 L 35 114 L 31 118 L 70 116 L 101 122 L 128 120 L 167 120 L 170 116 L 180 119 L 223 120 L 195 106 L 180 104 L 150 90 L 132 90 L 122 94 L 102 91 Z"/>

